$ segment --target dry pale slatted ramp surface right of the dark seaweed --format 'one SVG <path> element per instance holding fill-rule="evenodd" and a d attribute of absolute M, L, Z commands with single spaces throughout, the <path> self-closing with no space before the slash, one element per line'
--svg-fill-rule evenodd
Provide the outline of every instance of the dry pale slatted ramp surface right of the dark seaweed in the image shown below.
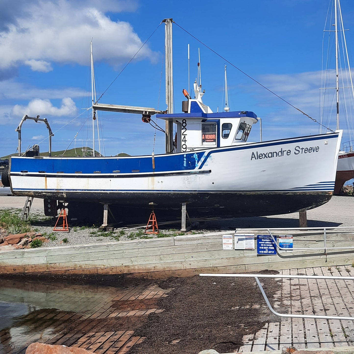
<path fill-rule="evenodd" d="M 351 276 L 351 266 L 290 269 L 291 275 Z M 354 278 L 353 278 L 354 280 Z M 281 281 L 281 280 L 280 280 Z M 284 279 L 276 311 L 292 314 L 354 317 L 354 281 Z M 267 313 L 264 307 L 264 313 Z M 240 352 L 278 350 L 282 347 L 327 348 L 354 346 L 353 321 L 278 318 L 257 333 L 244 336 Z M 353 350 L 354 352 L 354 350 Z"/>

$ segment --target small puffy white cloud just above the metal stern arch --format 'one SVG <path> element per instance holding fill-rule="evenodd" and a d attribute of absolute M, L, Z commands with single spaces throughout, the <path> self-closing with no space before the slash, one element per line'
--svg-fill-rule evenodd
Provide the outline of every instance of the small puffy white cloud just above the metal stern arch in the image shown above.
<path fill-rule="evenodd" d="M 76 112 L 77 108 L 75 102 L 70 97 L 62 99 L 62 105 L 60 108 L 54 107 L 49 99 L 39 98 L 33 99 L 27 106 L 16 104 L 12 108 L 12 114 L 17 116 L 22 116 L 24 114 L 34 116 L 39 114 L 60 117 L 74 115 Z"/>

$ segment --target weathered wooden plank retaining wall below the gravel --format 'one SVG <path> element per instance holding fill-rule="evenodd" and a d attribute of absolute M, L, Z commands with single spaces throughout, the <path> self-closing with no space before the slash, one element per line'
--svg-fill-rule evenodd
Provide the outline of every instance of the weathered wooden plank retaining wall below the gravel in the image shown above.
<path fill-rule="evenodd" d="M 127 278 L 153 279 L 199 273 L 323 267 L 354 261 L 354 250 L 350 249 L 330 250 L 327 255 L 324 251 L 309 250 L 268 256 L 257 256 L 256 250 L 223 250 L 223 234 L 232 232 L 1 251 L 0 274 L 124 274 Z M 322 245 L 323 235 L 306 234 L 294 238 L 294 247 Z M 332 246 L 354 246 L 354 235 L 327 235 L 327 247 Z"/>

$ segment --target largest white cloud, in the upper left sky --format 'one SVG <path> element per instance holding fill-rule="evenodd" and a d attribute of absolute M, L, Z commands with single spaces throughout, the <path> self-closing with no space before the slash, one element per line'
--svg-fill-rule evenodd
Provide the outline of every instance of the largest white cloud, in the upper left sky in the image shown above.
<path fill-rule="evenodd" d="M 112 21 L 105 11 L 134 10 L 129 1 L 47 1 L 22 3 L 22 10 L 0 32 L 0 69 L 22 64 L 46 72 L 51 62 L 89 64 L 90 40 L 96 61 L 119 65 L 142 41 L 128 22 Z M 154 60 L 145 45 L 137 59 Z"/>

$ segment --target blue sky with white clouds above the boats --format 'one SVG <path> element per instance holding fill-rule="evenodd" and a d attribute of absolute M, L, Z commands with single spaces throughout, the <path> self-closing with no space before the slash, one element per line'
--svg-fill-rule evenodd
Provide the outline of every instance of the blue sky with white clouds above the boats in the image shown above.
<path fill-rule="evenodd" d="M 23 114 L 40 114 L 49 120 L 55 132 L 53 150 L 67 148 L 77 132 L 76 147 L 92 147 L 92 121 L 87 122 L 85 110 L 90 106 L 91 38 L 97 91 L 101 95 L 167 17 L 319 119 L 322 38 L 330 1 L 0 0 L 1 8 L 6 9 L 0 14 L 0 156 L 16 151 L 15 128 Z M 351 29 L 346 36 L 349 59 L 354 64 L 354 3 L 341 0 L 341 6 L 344 27 Z M 190 84 L 196 76 L 200 47 L 202 84 L 206 90 L 203 100 L 214 112 L 217 107 L 221 110 L 224 60 L 174 25 L 175 112 L 181 112 L 182 89 L 188 89 L 188 43 Z M 160 89 L 163 53 L 161 24 L 101 102 L 166 109 L 164 72 Z M 334 63 L 333 58 L 329 68 L 335 68 Z M 231 110 L 251 110 L 262 117 L 264 140 L 319 132 L 317 124 L 229 64 L 228 84 Z M 335 127 L 335 116 L 327 114 L 326 119 L 329 118 L 326 124 Z M 103 152 L 104 145 L 106 155 L 152 152 L 154 129 L 142 123 L 139 116 L 100 113 L 100 122 L 101 149 Z M 159 121 L 159 125 L 163 124 Z M 341 127 L 347 129 L 344 121 Z M 257 141 L 258 129 L 253 127 L 252 141 Z M 22 149 L 46 136 L 44 125 L 25 122 Z M 343 141 L 346 139 L 349 140 L 345 136 Z M 73 147 L 74 142 L 70 145 Z M 97 141 L 95 147 L 97 150 Z M 47 151 L 47 140 L 40 143 L 40 149 Z M 155 153 L 162 152 L 164 135 L 158 132 Z"/>

